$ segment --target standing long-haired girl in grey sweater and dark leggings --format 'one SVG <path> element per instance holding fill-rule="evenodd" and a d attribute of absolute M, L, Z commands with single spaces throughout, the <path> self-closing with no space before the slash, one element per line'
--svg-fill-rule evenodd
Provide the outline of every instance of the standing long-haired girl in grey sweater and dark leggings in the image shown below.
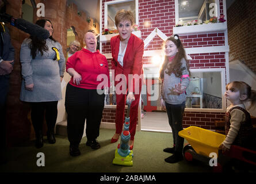
<path fill-rule="evenodd" d="M 165 42 L 165 62 L 160 71 L 162 80 L 161 105 L 166 108 L 169 124 L 173 132 L 173 148 L 163 151 L 172 153 L 165 159 L 175 163 L 183 159 L 184 138 L 178 135 L 182 130 L 182 119 L 186 101 L 186 87 L 189 86 L 189 64 L 184 47 L 177 34 Z"/>

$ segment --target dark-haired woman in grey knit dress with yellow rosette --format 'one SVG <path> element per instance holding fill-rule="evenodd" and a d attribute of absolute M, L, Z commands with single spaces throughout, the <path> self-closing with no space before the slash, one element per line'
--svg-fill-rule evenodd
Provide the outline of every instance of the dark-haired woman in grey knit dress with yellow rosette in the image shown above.
<path fill-rule="evenodd" d="M 54 127 L 58 114 L 57 104 L 62 99 L 60 82 L 65 70 L 62 46 L 52 37 L 51 21 L 41 19 L 36 22 L 49 31 L 47 40 L 30 36 L 21 45 L 21 101 L 31 105 L 31 119 L 36 133 L 36 147 L 43 147 L 43 120 L 47 122 L 47 139 L 55 143 Z"/>

